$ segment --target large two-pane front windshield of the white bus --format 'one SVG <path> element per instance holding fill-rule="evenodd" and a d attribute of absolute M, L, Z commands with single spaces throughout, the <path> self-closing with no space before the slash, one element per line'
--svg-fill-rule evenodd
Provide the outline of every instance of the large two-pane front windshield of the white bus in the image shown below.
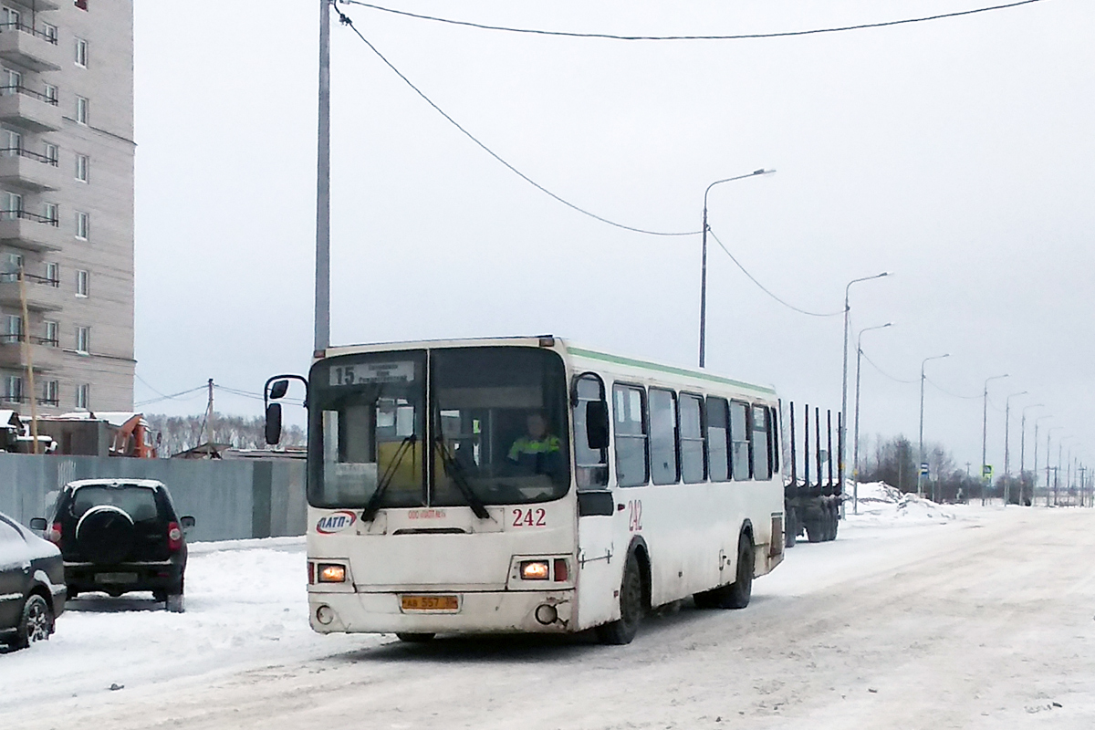
<path fill-rule="evenodd" d="M 315 507 L 364 508 L 378 489 L 376 507 L 517 505 L 569 486 L 566 375 L 551 350 L 339 356 L 310 382 Z"/>

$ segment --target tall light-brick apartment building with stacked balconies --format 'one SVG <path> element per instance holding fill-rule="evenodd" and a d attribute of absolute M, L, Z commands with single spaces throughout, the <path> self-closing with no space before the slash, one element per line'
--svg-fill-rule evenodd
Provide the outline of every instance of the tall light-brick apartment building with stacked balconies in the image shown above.
<path fill-rule="evenodd" d="M 132 0 L 0 0 L 0 408 L 132 407 Z"/>

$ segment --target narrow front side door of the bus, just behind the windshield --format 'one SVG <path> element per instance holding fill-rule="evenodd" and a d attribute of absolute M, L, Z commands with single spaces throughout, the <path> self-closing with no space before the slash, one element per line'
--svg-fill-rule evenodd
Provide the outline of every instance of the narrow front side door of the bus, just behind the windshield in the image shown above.
<path fill-rule="evenodd" d="M 577 375 L 570 387 L 578 491 L 578 628 L 615 618 L 620 557 L 612 541 L 615 498 L 609 491 L 609 415 L 604 383 Z"/>

